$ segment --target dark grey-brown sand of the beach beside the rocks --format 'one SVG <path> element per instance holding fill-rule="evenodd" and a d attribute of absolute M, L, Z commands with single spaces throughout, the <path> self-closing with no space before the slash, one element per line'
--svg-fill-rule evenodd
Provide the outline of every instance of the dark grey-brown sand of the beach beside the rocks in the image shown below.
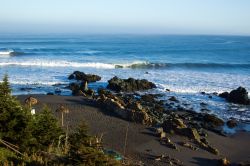
<path fill-rule="evenodd" d="M 223 157 L 227 157 L 232 163 L 250 161 L 250 133 L 240 132 L 230 137 L 224 137 L 208 132 L 208 141 L 220 151 L 218 156 L 202 149 L 193 151 L 182 147 L 178 143 L 186 140 L 186 138 L 172 136 L 170 139 L 172 142 L 177 143 L 179 148 L 179 151 L 177 151 L 161 145 L 159 138 L 154 136 L 146 126 L 122 120 L 107 111 L 91 106 L 93 104 L 82 97 L 32 96 L 39 101 L 39 104 L 34 106 L 37 112 L 44 104 L 48 105 L 54 112 L 60 104 L 67 106 L 70 113 L 67 115 L 65 123 L 67 121 L 71 129 L 74 129 L 80 121 L 85 120 L 92 135 L 103 134 L 104 146 L 121 154 L 124 153 L 125 134 L 128 126 L 125 156 L 136 161 L 142 161 L 145 165 L 167 165 L 162 161 L 152 159 L 152 156 L 161 154 L 179 159 L 184 165 L 217 165 L 216 159 Z M 25 95 L 17 96 L 21 102 L 26 97 Z M 59 113 L 55 112 L 55 115 L 60 118 Z"/>

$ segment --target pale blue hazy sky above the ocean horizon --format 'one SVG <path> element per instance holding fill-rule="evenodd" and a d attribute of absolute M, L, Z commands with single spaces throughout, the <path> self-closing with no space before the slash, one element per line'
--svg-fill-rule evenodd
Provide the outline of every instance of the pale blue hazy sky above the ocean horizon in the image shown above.
<path fill-rule="evenodd" d="M 250 35 L 250 0 L 0 0 L 0 33 Z"/>

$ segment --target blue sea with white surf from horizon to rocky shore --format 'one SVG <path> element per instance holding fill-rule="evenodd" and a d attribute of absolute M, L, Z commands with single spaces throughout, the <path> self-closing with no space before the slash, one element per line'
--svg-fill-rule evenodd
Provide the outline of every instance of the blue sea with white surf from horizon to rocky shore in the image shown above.
<path fill-rule="evenodd" d="M 94 73 L 106 86 L 113 76 L 145 78 L 165 98 L 177 95 L 200 102 L 223 118 L 250 121 L 250 109 L 200 92 L 250 91 L 250 37 L 181 35 L 1 35 L 0 77 L 7 73 L 13 94 L 47 93 L 64 88 L 75 70 Z M 60 84 L 60 86 L 58 85 Z M 32 88 L 23 91 L 20 88 Z M 165 89 L 172 92 L 166 93 Z M 236 111 L 235 111 L 236 110 Z"/>

